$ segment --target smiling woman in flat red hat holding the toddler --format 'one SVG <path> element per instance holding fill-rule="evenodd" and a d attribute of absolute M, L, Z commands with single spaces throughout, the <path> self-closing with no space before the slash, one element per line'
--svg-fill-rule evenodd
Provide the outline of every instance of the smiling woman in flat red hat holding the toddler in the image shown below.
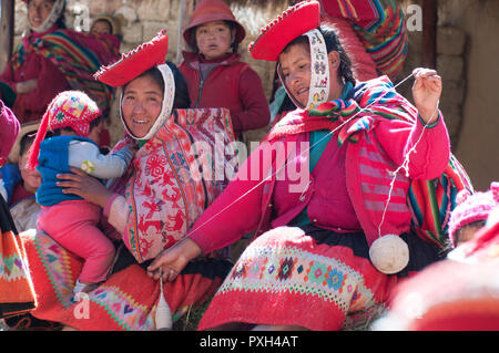
<path fill-rule="evenodd" d="M 222 147 L 234 141 L 227 110 L 187 108 L 186 84 L 179 70 L 165 63 L 166 52 L 167 35 L 162 31 L 95 74 L 99 81 L 122 87 L 125 137 L 111 152 L 126 146 L 136 152 L 124 176 L 108 187 L 79 169 L 60 175 L 58 186 L 64 195 L 102 207 L 103 232 L 118 248 L 115 262 L 109 278 L 75 304 L 71 291 L 82 260 L 50 233 L 23 239 L 39 299 L 32 314 L 38 319 L 78 330 L 155 330 L 164 319 L 172 322 L 202 303 L 231 268 L 228 261 L 214 258 L 187 266 L 179 281 L 163 285 L 173 316 L 160 315 L 160 283 L 147 277 L 145 267 L 185 236 L 226 185 L 194 175 L 200 168 L 207 172 L 200 165 L 198 148 L 217 148 L 215 135 L 222 137 Z M 81 315 L 75 314 L 79 310 Z"/>

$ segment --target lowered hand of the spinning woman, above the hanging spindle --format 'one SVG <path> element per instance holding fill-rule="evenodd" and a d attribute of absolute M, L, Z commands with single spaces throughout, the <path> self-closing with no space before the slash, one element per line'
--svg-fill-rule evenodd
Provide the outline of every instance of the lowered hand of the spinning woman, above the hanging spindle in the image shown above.
<path fill-rule="evenodd" d="M 163 250 L 147 267 L 147 276 L 160 279 L 160 270 L 163 281 L 173 281 L 184 269 L 189 261 L 201 253 L 201 248 L 190 238 L 184 238 L 173 247 Z"/>

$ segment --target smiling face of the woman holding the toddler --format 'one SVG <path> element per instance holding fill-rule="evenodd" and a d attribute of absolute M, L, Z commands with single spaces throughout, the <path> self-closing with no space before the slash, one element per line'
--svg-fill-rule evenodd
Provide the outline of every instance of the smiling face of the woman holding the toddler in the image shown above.
<path fill-rule="evenodd" d="M 163 104 L 163 87 L 150 75 L 132 80 L 123 91 L 121 112 L 134 137 L 144 137 L 156 122 Z"/>

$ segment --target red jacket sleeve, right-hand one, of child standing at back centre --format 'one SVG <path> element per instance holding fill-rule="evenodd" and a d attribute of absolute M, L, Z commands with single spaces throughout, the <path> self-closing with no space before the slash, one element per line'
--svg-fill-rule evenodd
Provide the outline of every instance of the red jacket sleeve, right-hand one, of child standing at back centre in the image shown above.
<path fill-rule="evenodd" d="M 262 80 L 253 69 L 246 69 L 240 77 L 240 97 L 243 111 L 231 114 L 236 132 L 265 127 L 271 122 L 271 108 L 262 86 Z"/>

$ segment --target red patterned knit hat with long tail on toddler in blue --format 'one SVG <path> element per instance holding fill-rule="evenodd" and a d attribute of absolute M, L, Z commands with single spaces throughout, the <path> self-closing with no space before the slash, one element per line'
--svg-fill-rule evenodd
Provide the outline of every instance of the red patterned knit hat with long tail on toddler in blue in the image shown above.
<path fill-rule="evenodd" d="M 34 169 L 38 165 L 40 144 L 47 129 L 51 132 L 62 127 L 71 127 L 79 136 L 86 137 L 90 133 L 90 122 L 101 116 L 101 110 L 94 101 L 81 91 L 64 91 L 59 93 L 47 107 L 40 123 L 37 137 L 30 148 L 28 165 Z"/>

